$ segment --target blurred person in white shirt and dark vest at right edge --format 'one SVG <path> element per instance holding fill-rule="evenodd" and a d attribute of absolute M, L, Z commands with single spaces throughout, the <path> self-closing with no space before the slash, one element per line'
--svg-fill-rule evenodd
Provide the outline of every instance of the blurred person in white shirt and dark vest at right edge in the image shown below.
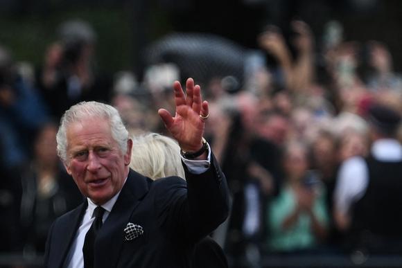
<path fill-rule="evenodd" d="M 399 244 L 402 238 L 396 227 L 402 217 L 393 210 L 402 197 L 402 145 L 396 139 L 401 115 L 374 104 L 367 120 L 372 138 L 369 157 L 350 157 L 340 166 L 333 216 L 338 229 L 353 237 L 351 247 L 376 252 L 385 242 Z"/>

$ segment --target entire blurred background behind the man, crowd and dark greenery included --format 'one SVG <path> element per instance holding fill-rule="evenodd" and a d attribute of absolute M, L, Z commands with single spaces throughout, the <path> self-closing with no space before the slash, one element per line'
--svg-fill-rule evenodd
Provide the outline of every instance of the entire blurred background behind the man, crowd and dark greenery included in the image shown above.
<path fill-rule="evenodd" d="M 99 100 L 133 135 L 168 135 L 157 109 L 188 77 L 231 190 L 211 234 L 229 267 L 402 267 L 401 10 L 0 0 L 0 267 L 41 267 L 51 222 L 82 202 L 55 152 L 62 112 Z"/>

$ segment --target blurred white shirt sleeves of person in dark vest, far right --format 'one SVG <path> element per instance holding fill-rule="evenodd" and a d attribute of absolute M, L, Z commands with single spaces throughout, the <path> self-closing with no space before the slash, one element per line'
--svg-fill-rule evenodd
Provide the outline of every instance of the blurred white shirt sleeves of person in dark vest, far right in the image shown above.
<path fill-rule="evenodd" d="M 402 161 L 402 145 L 395 139 L 379 139 L 371 149 L 374 159 L 380 161 Z M 349 213 L 351 205 L 364 194 L 369 183 L 369 170 L 362 157 L 351 157 L 340 166 L 334 193 L 335 209 Z"/>

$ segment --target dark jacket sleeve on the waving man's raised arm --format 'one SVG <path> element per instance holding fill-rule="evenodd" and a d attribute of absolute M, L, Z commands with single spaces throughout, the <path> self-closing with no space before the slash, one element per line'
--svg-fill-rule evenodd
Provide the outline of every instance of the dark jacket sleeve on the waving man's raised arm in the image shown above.
<path fill-rule="evenodd" d="M 186 181 L 161 187 L 156 195 L 159 222 L 175 233 L 175 238 L 198 242 L 224 222 L 229 215 L 229 190 L 225 175 L 211 154 L 211 165 L 200 175 L 187 170 Z M 159 190 L 161 191 L 161 190 Z"/>

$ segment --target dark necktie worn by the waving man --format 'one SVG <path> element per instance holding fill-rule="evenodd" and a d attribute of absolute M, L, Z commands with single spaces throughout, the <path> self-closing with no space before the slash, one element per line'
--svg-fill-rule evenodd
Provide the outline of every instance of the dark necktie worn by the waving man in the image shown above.
<path fill-rule="evenodd" d="M 102 227 L 102 217 L 105 209 L 101 206 L 97 206 L 94 210 L 95 220 L 92 222 L 91 228 L 85 235 L 84 247 L 82 247 L 82 253 L 84 253 L 84 267 L 94 267 L 94 246 L 95 238 L 98 234 L 100 227 Z"/>

